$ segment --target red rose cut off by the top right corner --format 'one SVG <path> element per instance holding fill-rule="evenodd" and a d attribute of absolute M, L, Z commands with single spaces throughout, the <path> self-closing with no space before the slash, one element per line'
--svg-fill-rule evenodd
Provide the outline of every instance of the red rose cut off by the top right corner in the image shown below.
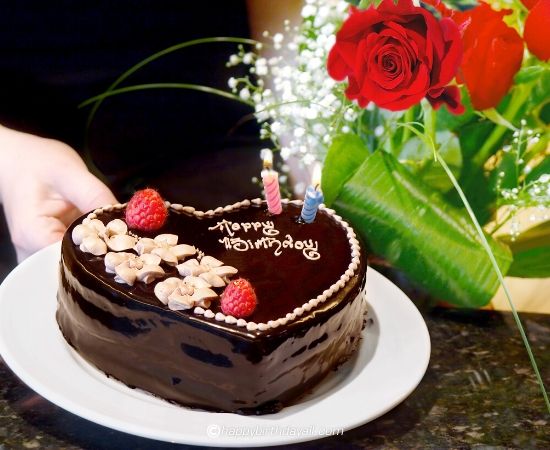
<path fill-rule="evenodd" d="M 550 0 L 539 0 L 525 20 L 523 39 L 541 61 L 550 59 Z"/>

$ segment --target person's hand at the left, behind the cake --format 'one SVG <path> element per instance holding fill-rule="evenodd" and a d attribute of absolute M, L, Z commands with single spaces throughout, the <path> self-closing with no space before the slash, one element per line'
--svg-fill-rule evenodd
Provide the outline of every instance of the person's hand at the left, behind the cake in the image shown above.
<path fill-rule="evenodd" d="M 79 215 L 117 201 L 68 145 L 0 126 L 0 202 L 21 262 Z"/>

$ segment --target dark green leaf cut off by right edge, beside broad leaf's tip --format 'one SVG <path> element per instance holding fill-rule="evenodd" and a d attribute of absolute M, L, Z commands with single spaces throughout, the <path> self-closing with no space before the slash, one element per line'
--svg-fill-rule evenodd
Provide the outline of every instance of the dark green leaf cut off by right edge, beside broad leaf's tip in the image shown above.
<path fill-rule="evenodd" d="M 514 241 L 503 237 L 514 254 L 508 275 L 522 278 L 550 277 L 550 221 L 521 233 Z"/>

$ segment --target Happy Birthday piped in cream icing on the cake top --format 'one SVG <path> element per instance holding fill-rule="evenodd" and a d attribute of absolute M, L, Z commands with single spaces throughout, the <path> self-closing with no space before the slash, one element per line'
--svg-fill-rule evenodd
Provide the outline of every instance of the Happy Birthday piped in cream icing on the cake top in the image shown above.
<path fill-rule="evenodd" d="M 265 222 L 230 222 L 228 220 L 222 220 L 215 226 L 208 228 L 210 231 L 219 230 L 221 233 L 227 233 L 229 236 L 225 236 L 219 239 L 218 242 L 225 245 L 227 250 L 235 250 L 237 252 L 246 252 L 249 250 L 259 249 L 273 249 L 273 254 L 279 256 L 285 249 L 294 249 L 302 252 L 306 259 L 315 261 L 321 258 L 319 253 L 319 244 L 312 239 L 307 240 L 295 240 L 290 234 L 287 234 L 284 239 L 279 239 L 273 236 L 280 234 L 279 230 L 275 228 L 272 221 Z M 249 231 L 260 231 L 265 236 L 258 239 L 243 239 L 241 237 L 235 237 L 235 232 L 243 231 L 248 233 Z"/>

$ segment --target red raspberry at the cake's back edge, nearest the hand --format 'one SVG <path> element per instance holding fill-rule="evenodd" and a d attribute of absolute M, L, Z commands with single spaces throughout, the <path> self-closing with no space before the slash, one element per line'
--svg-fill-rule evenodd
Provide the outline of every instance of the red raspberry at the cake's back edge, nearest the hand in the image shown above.
<path fill-rule="evenodd" d="M 154 189 L 137 191 L 126 206 L 126 223 L 143 231 L 158 230 L 168 216 L 168 209 Z"/>

